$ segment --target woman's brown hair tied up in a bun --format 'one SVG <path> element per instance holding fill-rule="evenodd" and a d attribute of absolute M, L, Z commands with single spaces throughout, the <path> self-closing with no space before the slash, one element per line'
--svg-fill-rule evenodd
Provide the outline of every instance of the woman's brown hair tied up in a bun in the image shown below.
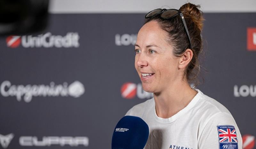
<path fill-rule="evenodd" d="M 203 49 L 201 31 L 203 28 L 204 18 L 203 12 L 198 8 L 200 8 L 200 5 L 187 3 L 182 5 L 179 9 L 183 13 L 188 27 L 191 39 L 191 50 L 193 51 L 193 57 L 188 64 L 184 75 L 187 77 L 189 83 L 194 84 L 194 87 L 199 85 L 199 80 L 197 78 L 200 72 L 198 57 Z M 175 56 L 182 56 L 185 50 L 190 48 L 189 39 L 180 15 L 171 19 L 161 19 L 160 15 L 156 15 L 152 18 L 146 19 L 145 24 L 152 20 L 156 20 L 159 26 L 168 33 L 169 38 L 167 41 L 172 45 Z"/>

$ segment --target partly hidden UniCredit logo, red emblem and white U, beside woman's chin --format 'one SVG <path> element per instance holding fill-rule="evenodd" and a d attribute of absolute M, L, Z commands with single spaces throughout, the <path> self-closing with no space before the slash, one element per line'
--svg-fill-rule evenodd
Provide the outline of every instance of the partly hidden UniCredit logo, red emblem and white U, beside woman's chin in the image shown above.
<path fill-rule="evenodd" d="M 121 95 L 125 99 L 133 99 L 137 95 L 139 99 L 150 99 L 153 93 L 148 93 L 143 90 L 141 84 L 126 82 L 121 87 Z"/>

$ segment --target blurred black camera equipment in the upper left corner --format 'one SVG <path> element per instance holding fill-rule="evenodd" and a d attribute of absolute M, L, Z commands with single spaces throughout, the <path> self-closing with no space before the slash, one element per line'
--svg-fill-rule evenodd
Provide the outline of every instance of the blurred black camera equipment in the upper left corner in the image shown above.
<path fill-rule="evenodd" d="M 49 0 L 0 0 L 0 36 L 46 28 Z"/>

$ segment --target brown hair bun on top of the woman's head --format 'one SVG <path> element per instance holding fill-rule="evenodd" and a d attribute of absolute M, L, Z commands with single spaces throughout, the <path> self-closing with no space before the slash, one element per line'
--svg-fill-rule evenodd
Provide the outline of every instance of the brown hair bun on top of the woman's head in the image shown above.
<path fill-rule="evenodd" d="M 187 3 L 180 7 L 180 11 L 185 18 L 190 18 L 195 23 L 196 27 L 202 31 L 204 21 L 203 12 L 198 8 L 200 8 L 200 5 Z"/>

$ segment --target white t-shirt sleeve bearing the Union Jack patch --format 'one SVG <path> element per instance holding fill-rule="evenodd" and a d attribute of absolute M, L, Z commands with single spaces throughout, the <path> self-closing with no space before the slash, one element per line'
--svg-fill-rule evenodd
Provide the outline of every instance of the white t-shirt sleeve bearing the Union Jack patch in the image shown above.
<path fill-rule="evenodd" d="M 242 149 L 242 137 L 232 115 L 219 113 L 206 122 L 198 138 L 199 149 Z"/>

